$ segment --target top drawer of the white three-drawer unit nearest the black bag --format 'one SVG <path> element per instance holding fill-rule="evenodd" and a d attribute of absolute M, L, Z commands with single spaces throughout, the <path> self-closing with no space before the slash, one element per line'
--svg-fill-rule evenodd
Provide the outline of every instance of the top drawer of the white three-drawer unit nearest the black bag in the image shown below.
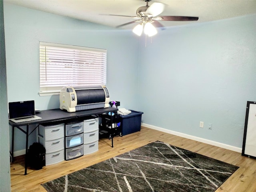
<path fill-rule="evenodd" d="M 64 123 L 58 125 L 44 126 L 39 125 L 38 134 L 45 141 L 55 140 L 64 137 Z"/>

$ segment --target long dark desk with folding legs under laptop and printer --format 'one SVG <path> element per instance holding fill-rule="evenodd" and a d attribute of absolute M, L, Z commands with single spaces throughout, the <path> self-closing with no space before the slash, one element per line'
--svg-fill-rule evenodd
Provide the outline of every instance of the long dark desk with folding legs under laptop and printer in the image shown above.
<path fill-rule="evenodd" d="M 66 112 L 64 110 L 60 109 L 51 109 L 51 110 L 43 110 L 37 113 L 36 115 L 41 117 L 42 119 L 34 120 L 34 121 L 27 121 L 27 122 L 21 122 L 21 123 L 14 123 L 9 120 L 9 125 L 12 126 L 12 159 L 13 159 L 13 150 L 14 150 L 14 128 L 18 128 L 21 130 L 24 134 L 26 134 L 26 154 L 25 154 L 25 173 L 27 174 L 27 156 L 28 156 L 28 136 L 34 132 L 34 130 L 38 127 L 39 124 L 42 123 L 60 123 L 70 120 L 76 120 L 78 118 L 86 118 L 91 115 L 98 115 L 108 112 L 116 112 L 118 111 L 117 108 L 98 108 L 98 109 L 91 109 L 91 110 L 83 110 L 83 111 L 77 111 L 77 112 Z M 29 126 L 37 124 L 36 128 L 34 128 L 31 132 L 29 132 Z M 21 126 L 26 126 L 26 131 L 20 128 Z M 113 138 L 112 138 L 112 146 L 113 146 Z"/>

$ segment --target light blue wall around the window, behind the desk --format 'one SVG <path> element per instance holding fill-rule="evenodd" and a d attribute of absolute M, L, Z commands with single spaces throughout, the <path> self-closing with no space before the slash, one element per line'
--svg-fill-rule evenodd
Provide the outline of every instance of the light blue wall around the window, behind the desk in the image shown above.
<path fill-rule="evenodd" d="M 39 42 L 107 49 L 107 88 L 111 100 L 138 108 L 138 48 L 131 31 L 83 22 L 4 2 L 8 102 L 35 100 L 38 109 L 59 108 L 59 96 L 39 96 Z M 11 134 L 11 133 L 10 133 Z M 35 134 L 35 133 L 34 133 Z M 30 143 L 35 142 L 30 136 Z M 11 141 L 10 141 L 11 142 Z M 15 131 L 14 151 L 25 148 Z"/>

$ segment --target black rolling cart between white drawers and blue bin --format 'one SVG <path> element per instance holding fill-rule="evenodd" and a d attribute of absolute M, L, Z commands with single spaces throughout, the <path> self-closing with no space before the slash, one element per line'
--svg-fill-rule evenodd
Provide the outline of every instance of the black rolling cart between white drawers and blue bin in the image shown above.
<path fill-rule="evenodd" d="M 113 103 L 109 102 L 110 107 L 113 107 Z M 120 106 L 120 102 L 116 102 L 116 108 Z M 120 115 L 117 114 L 117 111 L 115 112 L 109 112 L 108 114 L 100 114 L 98 115 L 101 118 L 101 122 L 99 125 L 99 138 L 108 138 L 112 140 L 112 147 L 114 147 L 113 144 L 113 138 L 115 136 L 121 136 L 122 137 L 122 130 L 120 127 Z"/>

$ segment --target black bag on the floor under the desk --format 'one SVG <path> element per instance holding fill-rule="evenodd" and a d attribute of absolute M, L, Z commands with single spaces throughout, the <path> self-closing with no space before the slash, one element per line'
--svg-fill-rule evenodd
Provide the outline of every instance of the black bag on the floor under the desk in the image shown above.
<path fill-rule="evenodd" d="M 45 153 L 44 146 L 33 143 L 28 149 L 28 164 L 36 170 L 42 169 L 45 166 Z"/>

